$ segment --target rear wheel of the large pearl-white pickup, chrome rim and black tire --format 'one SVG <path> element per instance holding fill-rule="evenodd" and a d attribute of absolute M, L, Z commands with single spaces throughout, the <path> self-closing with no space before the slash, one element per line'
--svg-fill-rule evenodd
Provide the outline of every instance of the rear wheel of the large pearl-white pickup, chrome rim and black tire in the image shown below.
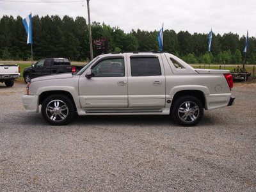
<path fill-rule="evenodd" d="M 193 126 L 200 122 L 204 107 L 200 100 L 192 96 L 183 96 L 174 100 L 171 115 L 173 120 L 183 126 Z"/>

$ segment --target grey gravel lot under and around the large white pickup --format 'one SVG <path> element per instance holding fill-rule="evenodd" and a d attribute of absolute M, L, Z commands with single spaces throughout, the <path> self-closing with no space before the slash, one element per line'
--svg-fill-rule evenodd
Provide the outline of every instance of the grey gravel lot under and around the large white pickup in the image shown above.
<path fill-rule="evenodd" d="M 256 84 L 195 127 L 169 116 L 78 116 L 54 127 L 0 84 L 0 191 L 256 191 Z"/>

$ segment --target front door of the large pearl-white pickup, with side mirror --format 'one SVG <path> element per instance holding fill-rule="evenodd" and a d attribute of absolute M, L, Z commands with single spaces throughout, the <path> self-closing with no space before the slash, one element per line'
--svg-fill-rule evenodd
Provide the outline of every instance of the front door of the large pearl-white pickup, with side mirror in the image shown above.
<path fill-rule="evenodd" d="M 113 63 L 115 67 L 118 65 L 118 70 L 109 68 Z M 123 56 L 102 58 L 88 70 L 91 70 L 93 77 L 82 75 L 79 78 L 82 108 L 101 111 L 127 108 L 127 75 Z"/>

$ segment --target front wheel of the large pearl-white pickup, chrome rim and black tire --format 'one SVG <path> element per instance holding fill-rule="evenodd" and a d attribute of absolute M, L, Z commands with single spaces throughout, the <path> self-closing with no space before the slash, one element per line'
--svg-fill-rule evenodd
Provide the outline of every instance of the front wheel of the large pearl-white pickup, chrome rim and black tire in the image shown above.
<path fill-rule="evenodd" d="M 51 125 L 66 125 L 74 118 L 74 103 L 65 95 L 51 95 L 42 103 L 41 113 Z"/>

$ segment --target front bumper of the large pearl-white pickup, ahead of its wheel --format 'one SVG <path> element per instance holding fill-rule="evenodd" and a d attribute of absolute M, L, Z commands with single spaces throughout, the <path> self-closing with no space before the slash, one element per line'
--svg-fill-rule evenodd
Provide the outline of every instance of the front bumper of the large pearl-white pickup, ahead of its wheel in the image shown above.
<path fill-rule="evenodd" d="M 22 104 L 28 112 L 38 112 L 39 96 L 38 95 L 23 95 Z"/>

